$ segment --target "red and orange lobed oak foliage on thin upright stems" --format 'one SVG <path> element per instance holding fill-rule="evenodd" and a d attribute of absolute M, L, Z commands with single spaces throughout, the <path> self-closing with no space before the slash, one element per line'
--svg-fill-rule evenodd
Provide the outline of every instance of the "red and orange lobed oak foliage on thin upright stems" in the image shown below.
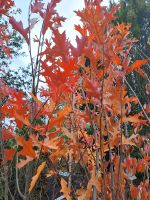
<path fill-rule="evenodd" d="M 84 2 L 85 7 L 75 11 L 81 20 L 75 25 L 80 34 L 76 47 L 59 30 L 65 20 L 56 11 L 60 0 L 47 5 L 33 1 L 28 27 L 9 14 L 13 1 L 0 2 L 0 14 L 29 47 L 32 67 L 28 93 L 0 80 L 1 166 L 17 157 L 17 170 L 34 169 L 28 191 L 22 192 L 26 199 L 45 174 L 57 177 L 66 199 L 148 200 L 148 132 L 140 133 L 149 126 L 150 106 L 143 106 L 134 91 L 129 95 L 132 86 L 126 79 L 132 71 L 146 78 L 141 67 L 147 60 L 131 62 L 136 39 L 129 37 L 130 25 L 112 23 L 119 6 L 109 11 L 101 0 Z M 31 38 L 38 19 L 42 20 L 40 36 Z M 0 46 L 11 57 L 8 40 L 5 27 L 0 28 Z M 32 57 L 33 40 L 38 46 L 36 58 Z M 138 104 L 141 110 L 133 114 L 132 107 Z M 6 118 L 10 119 L 7 125 Z M 15 142 L 7 148 L 4 144 L 9 140 Z M 135 149 L 140 157 L 133 156 Z M 62 162 L 69 174 L 65 178 L 60 175 Z M 86 181 L 76 186 L 73 177 L 81 168 Z M 142 179 L 137 183 L 138 174 Z"/>

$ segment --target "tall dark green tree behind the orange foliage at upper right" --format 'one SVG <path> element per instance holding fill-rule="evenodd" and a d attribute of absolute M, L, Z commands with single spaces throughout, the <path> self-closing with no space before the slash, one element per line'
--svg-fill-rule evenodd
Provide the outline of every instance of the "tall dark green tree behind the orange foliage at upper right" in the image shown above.
<path fill-rule="evenodd" d="M 132 56 L 132 62 L 136 59 L 147 59 L 148 64 L 142 68 L 143 77 L 138 76 L 137 73 L 131 73 L 127 78 L 129 83 L 133 86 L 133 90 L 139 97 L 140 101 L 144 105 L 150 101 L 149 96 L 145 92 L 145 87 L 149 84 L 150 65 L 149 65 L 149 52 L 150 45 L 148 43 L 150 36 L 150 1 L 145 0 L 120 0 L 120 9 L 116 16 L 115 23 L 124 22 L 131 24 L 130 37 L 135 37 L 138 42 L 134 45 L 130 54 Z M 111 1 L 110 6 L 113 5 Z M 130 91 L 130 90 L 129 90 Z M 131 92 L 131 91 L 130 91 Z M 132 93 L 132 92 L 131 92 Z M 139 110 L 139 109 L 137 109 Z M 137 111 L 136 111 L 137 112 Z"/>

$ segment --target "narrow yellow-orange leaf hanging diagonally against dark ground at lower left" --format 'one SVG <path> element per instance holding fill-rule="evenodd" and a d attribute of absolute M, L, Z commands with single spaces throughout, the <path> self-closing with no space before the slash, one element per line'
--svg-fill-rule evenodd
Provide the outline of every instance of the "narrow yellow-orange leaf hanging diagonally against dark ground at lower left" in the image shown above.
<path fill-rule="evenodd" d="M 36 182 L 37 182 L 37 180 L 38 180 L 38 178 L 39 178 L 41 172 L 43 171 L 45 165 L 46 165 L 46 162 L 43 162 L 43 163 L 38 167 L 36 175 L 34 175 L 34 176 L 32 177 L 32 181 L 31 181 L 31 183 L 30 183 L 30 188 L 29 188 L 29 193 L 33 190 L 33 188 L 34 188 L 34 186 L 35 186 L 35 184 L 36 184 Z"/>

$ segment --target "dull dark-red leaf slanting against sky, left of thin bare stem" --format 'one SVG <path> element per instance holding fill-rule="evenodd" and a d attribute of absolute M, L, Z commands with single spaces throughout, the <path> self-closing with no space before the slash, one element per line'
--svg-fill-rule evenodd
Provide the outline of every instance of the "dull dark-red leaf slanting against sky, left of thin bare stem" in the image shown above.
<path fill-rule="evenodd" d="M 24 29 L 22 21 L 17 22 L 14 17 L 9 17 L 9 22 L 11 23 L 11 25 L 13 26 L 13 28 L 16 31 L 18 31 L 24 37 L 24 39 L 26 40 L 27 44 L 29 45 L 29 43 L 30 43 L 29 42 L 29 38 L 28 38 L 29 28 Z"/>

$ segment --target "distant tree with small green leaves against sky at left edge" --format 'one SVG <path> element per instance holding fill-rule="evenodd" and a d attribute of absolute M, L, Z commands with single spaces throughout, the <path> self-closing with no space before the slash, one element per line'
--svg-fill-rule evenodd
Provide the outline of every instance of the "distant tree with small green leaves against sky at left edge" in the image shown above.
<path fill-rule="evenodd" d="M 8 10 L 7 12 L 8 14 L 13 14 L 13 15 L 21 14 L 21 10 L 16 9 L 14 7 L 10 7 L 10 10 Z M 18 34 L 16 30 L 11 29 L 11 27 L 9 26 L 9 20 L 6 17 L 4 17 L 4 15 L 0 16 L 0 26 L 1 26 L 0 77 L 10 87 L 16 89 L 22 88 L 27 91 L 28 88 L 31 87 L 30 68 L 29 67 L 23 68 L 22 66 L 19 66 L 17 69 L 14 68 L 12 69 L 11 66 L 11 62 L 14 58 L 24 55 L 24 53 L 21 52 L 23 38 Z"/>

